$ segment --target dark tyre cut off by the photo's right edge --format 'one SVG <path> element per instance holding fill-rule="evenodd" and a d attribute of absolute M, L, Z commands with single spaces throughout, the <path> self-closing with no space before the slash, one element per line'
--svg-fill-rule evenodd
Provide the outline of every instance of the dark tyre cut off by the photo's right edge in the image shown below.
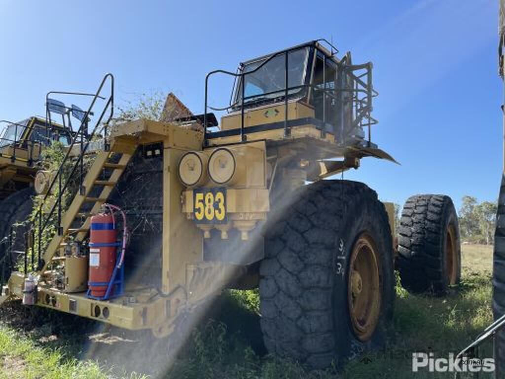
<path fill-rule="evenodd" d="M 505 315 L 505 177 L 501 179 L 493 251 L 493 313 L 494 319 Z M 496 377 L 505 376 L 505 330 L 496 333 L 494 340 Z"/>

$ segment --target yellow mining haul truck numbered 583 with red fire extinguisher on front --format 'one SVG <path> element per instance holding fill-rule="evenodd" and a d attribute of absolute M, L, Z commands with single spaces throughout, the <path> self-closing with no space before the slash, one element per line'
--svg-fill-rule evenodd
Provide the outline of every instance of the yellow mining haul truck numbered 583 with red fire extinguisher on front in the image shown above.
<path fill-rule="evenodd" d="M 215 75 L 235 79 L 220 123 Z M 221 290 L 259 287 L 268 351 L 324 367 L 384 342 L 395 265 L 412 292 L 458 285 L 450 198 L 410 198 L 396 239 L 392 204 L 331 179 L 365 157 L 394 162 L 372 142 L 371 63 L 314 40 L 212 71 L 205 89 L 201 115 L 169 96 L 161 121 L 112 125 L 111 88 L 90 128 L 105 139 L 74 137 L 40 186 L 2 300 L 164 337 Z"/>

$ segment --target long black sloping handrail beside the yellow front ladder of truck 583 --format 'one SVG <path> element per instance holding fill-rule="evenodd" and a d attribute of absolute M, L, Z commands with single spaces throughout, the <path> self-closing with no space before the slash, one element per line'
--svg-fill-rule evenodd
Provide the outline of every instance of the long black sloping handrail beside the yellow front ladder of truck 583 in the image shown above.
<path fill-rule="evenodd" d="M 110 95 L 109 97 L 107 98 L 104 98 L 102 96 L 100 96 L 100 93 L 102 92 L 105 84 L 107 83 L 107 81 L 110 81 L 110 85 L 111 85 L 111 89 L 110 89 Z M 48 95 L 47 95 L 48 96 Z M 47 99 L 47 96 L 46 96 L 46 99 Z M 100 114 L 100 116 L 98 117 L 96 123 L 95 123 L 95 126 L 93 127 L 93 130 L 91 132 L 91 134 L 88 135 L 88 138 L 86 138 L 86 143 L 84 144 L 84 141 L 83 141 L 83 129 L 84 127 L 86 126 L 87 127 L 87 120 L 88 120 L 88 117 L 89 115 L 91 114 L 91 110 L 93 109 L 93 106 L 95 105 L 95 102 L 97 99 L 108 99 L 105 106 L 104 106 L 104 109 L 102 111 L 102 113 Z M 47 103 L 46 103 L 47 104 Z M 108 124 L 109 122 L 111 121 L 112 117 L 114 116 L 114 76 L 111 74 L 111 73 L 108 73 L 104 76 L 104 78 L 102 79 L 102 82 L 100 82 L 100 85 L 98 86 L 98 89 L 96 90 L 94 96 L 93 96 L 93 100 L 91 101 L 89 107 L 88 107 L 88 110 L 84 113 L 84 117 L 81 121 L 81 124 L 80 124 L 80 127 L 79 129 L 77 130 L 77 132 L 74 134 L 73 138 L 72 138 L 72 143 L 70 144 L 68 150 L 67 150 L 67 153 L 62 161 L 62 163 L 60 164 L 60 167 L 58 168 L 58 171 L 56 173 L 56 175 L 53 177 L 51 183 L 49 184 L 49 187 L 47 189 L 47 193 L 44 195 L 43 199 L 42 199 L 42 203 L 41 205 L 39 206 L 39 210 L 38 210 L 38 263 L 40 263 L 40 257 L 41 257 L 41 233 L 42 231 L 46 228 L 47 224 L 49 223 L 49 220 L 51 220 L 51 217 L 53 216 L 55 210 L 56 210 L 56 207 L 58 206 L 58 233 L 60 234 L 62 232 L 62 227 L 61 227 L 61 217 L 62 217 L 62 204 L 61 204 L 61 201 L 62 201 L 62 196 L 63 196 L 63 193 L 66 191 L 67 187 L 68 187 L 68 184 L 70 183 L 70 180 L 72 179 L 75 171 L 77 170 L 77 167 L 80 165 L 81 167 L 81 175 L 80 175 L 80 186 L 79 186 L 79 191 L 82 192 L 82 179 L 83 179 L 83 175 L 82 175 L 82 165 L 83 165 L 83 160 L 84 160 L 84 153 L 86 152 L 88 146 L 89 146 L 89 143 L 91 141 L 91 139 L 93 138 L 93 136 L 95 135 L 95 132 L 96 130 L 98 129 L 99 125 L 102 124 L 102 120 L 104 119 L 104 116 L 106 115 L 106 112 L 107 110 L 110 108 L 110 113 L 109 113 L 109 116 L 107 118 L 107 121 L 105 121 L 104 123 L 104 133 L 105 133 L 105 138 L 107 138 L 107 127 L 108 127 Z M 49 120 L 49 122 L 51 122 L 51 120 Z M 81 144 L 81 151 L 80 151 L 80 154 L 79 154 L 79 157 L 77 158 L 75 164 L 73 165 L 72 167 L 72 170 L 70 171 L 70 175 L 67 177 L 67 180 L 65 181 L 65 183 L 62 182 L 62 175 L 63 175 L 63 167 L 65 165 L 65 163 L 69 160 L 69 157 L 70 157 L 70 153 L 72 151 L 72 147 L 76 144 L 77 142 L 77 137 L 80 135 L 80 141 L 79 143 Z M 107 143 L 106 143 L 106 149 L 107 149 Z M 49 194 L 51 194 L 51 191 L 53 189 L 53 187 L 55 186 L 55 183 L 56 181 L 58 180 L 58 201 L 55 202 L 55 204 L 53 204 L 53 206 L 51 207 L 51 210 L 49 211 L 49 213 L 47 214 L 47 217 L 45 218 L 44 222 L 42 223 L 42 207 L 43 207 L 43 204 L 45 204 L 45 201 L 47 200 L 47 197 L 49 196 Z"/>

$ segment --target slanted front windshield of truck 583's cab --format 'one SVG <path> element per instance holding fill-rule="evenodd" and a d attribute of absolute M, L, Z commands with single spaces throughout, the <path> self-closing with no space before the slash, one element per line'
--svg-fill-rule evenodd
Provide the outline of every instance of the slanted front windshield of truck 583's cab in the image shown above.
<path fill-rule="evenodd" d="M 308 48 L 293 50 L 288 53 L 288 87 L 304 84 L 308 55 Z M 267 59 L 244 65 L 243 70 L 245 73 L 248 73 L 244 76 L 244 103 L 262 99 L 274 99 L 282 96 L 285 89 L 286 72 L 284 54 L 280 54 L 263 64 Z M 302 89 L 293 88 L 288 93 L 297 93 Z M 241 91 L 242 83 L 239 83 L 235 93 L 235 103 L 241 103 Z"/>

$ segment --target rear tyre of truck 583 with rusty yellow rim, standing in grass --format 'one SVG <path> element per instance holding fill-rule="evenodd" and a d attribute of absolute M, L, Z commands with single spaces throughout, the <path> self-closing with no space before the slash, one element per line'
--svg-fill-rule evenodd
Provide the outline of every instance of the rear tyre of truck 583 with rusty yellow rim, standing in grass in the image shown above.
<path fill-rule="evenodd" d="M 444 295 L 461 278 L 458 215 L 444 195 L 410 197 L 401 213 L 398 271 L 411 293 Z"/>

